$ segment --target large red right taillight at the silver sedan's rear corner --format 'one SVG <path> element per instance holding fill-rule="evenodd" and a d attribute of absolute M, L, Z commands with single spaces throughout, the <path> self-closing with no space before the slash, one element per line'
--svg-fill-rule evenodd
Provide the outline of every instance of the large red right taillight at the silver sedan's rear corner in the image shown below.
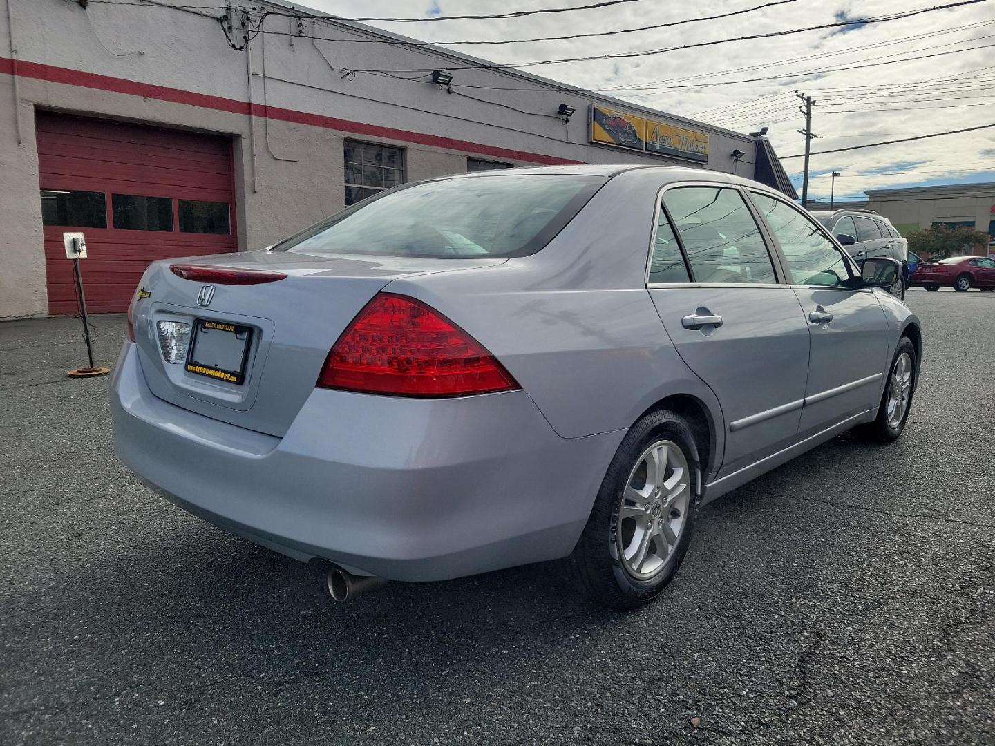
<path fill-rule="evenodd" d="M 420 300 L 381 292 L 335 342 L 317 385 L 368 394 L 444 397 L 517 389 L 494 355 Z"/>

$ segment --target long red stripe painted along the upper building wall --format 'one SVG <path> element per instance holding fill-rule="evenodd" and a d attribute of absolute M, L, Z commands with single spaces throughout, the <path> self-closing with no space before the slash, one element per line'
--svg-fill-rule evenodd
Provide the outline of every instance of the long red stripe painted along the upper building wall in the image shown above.
<path fill-rule="evenodd" d="M 0 57 L 0 73 L 12 75 L 13 72 L 14 61 L 9 57 Z M 570 160 L 568 158 L 557 158 L 552 155 L 543 155 L 542 153 L 530 153 L 525 150 L 510 150 L 508 148 L 496 147 L 494 145 L 485 145 L 480 142 L 471 142 L 470 140 L 459 140 L 453 137 L 441 137 L 439 135 L 426 134 L 425 132 L 412 132 L 407 129 L 382 127 L 377 124 L 366 124 L 365 122 L 352 121 L 351 119 L 339 119 L 334 116 L 313 114 L 308 111 L 298 111 L 293 108 L 264 106 L 261 103 L 250 104 L 248 101 L 225 98 L 220 95 L 193 93 L 192 91 L 171 89 L 165 86 L 153 86 L 147 83 L 128 81 L 123 78 L 112 78 L 110 76 L 101 76 L 96 73 L 85 73 L 81 70 L 59 68 L 54 65 L 42 65 L 41 63 L 25 62 L 24 60 L 17 61 L 17 74 L 21 78 L 34 78 L 39 81 L 62 83 L 67 86 L 79 86 L 80 88 L 96 89 L 98 91 L 140 95 L 145 98 L 155 98 L 157 100 L 183 103 L 188 106 L 199 106 L 201 108 L 213 108 L 219 111 L 231 111 L 246 115 L 248 115 L 251 111 L 255 116 L 264 116 L 283 121 L 293 121 L 298 124 L 309 124 L 311 126 L 323 127 L 325 129 L 337 129 L 353 134 L 365 134 L 371 137 L 384 137 L 387 139 L 403 140 L 405 142 L 416 142 L 421 145 L 445 147 L 452 150 L 465 150 L 481 155 L 490 155 L 496 158 L 524 160 L 529 161 L 530 163 L 542 163 L 550 166 L 583 163 L 583 161 Z"/>

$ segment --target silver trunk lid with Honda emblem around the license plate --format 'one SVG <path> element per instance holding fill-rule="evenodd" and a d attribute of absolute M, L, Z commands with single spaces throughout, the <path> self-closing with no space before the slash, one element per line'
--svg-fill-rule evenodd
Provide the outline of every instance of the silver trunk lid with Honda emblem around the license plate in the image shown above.
<path fill-rule="evenodd" d="M 313 391 L 339 334 L 388 282 L 492 267 L 505 261 L 251 252 L 156 262 L 142 278 L 134 302 L 138 357 L 149 389 L 160 399 L 232 425 L 282 437 Z M 262 270 L 287 277 L 247 285 L 184 280 L 170 271 L 170 266 L 177 264 Z M 200 305 L 198 296 L 208 284 L 214 287 L 213 295 L 206 305 Z M 227 339 L 234 335 L 227 335 L 224 329 L 234 326 L 245 337 L 236 343 L 239 349 L 245 345 L 242 382 L 191 372 L 186 360 L 167 362 L 157 334 L 160 321 L 189 324 L 191 332 L 199 322 L 209 322 L 220 325 L 218 338 Z M 213 330 L 210 333 L 215 334 Z M 196 344 L 196 336 L 191 336 L 188 356 Z"/>

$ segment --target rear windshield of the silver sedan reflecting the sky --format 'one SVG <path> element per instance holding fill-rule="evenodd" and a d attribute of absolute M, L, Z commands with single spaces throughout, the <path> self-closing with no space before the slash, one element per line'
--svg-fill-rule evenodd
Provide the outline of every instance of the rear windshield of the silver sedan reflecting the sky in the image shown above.
<path fill-rule="evenodd" d="M 521 257 L 549 243 L 605 181 L 574 174 L 509 174 L 398 187 L 311 226 L 273 251 Z"/>

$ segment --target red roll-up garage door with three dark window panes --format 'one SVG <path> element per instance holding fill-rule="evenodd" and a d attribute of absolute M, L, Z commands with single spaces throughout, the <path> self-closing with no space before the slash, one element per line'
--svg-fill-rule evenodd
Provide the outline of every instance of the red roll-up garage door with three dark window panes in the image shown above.
<path fill-rule="evenodd" d="M 50 313 L 77 312 L 66 231 L 95 313 L 127 310 L 149 262 L 236 250 L 230 138 L 41 111 L 37 130 Z"/>

